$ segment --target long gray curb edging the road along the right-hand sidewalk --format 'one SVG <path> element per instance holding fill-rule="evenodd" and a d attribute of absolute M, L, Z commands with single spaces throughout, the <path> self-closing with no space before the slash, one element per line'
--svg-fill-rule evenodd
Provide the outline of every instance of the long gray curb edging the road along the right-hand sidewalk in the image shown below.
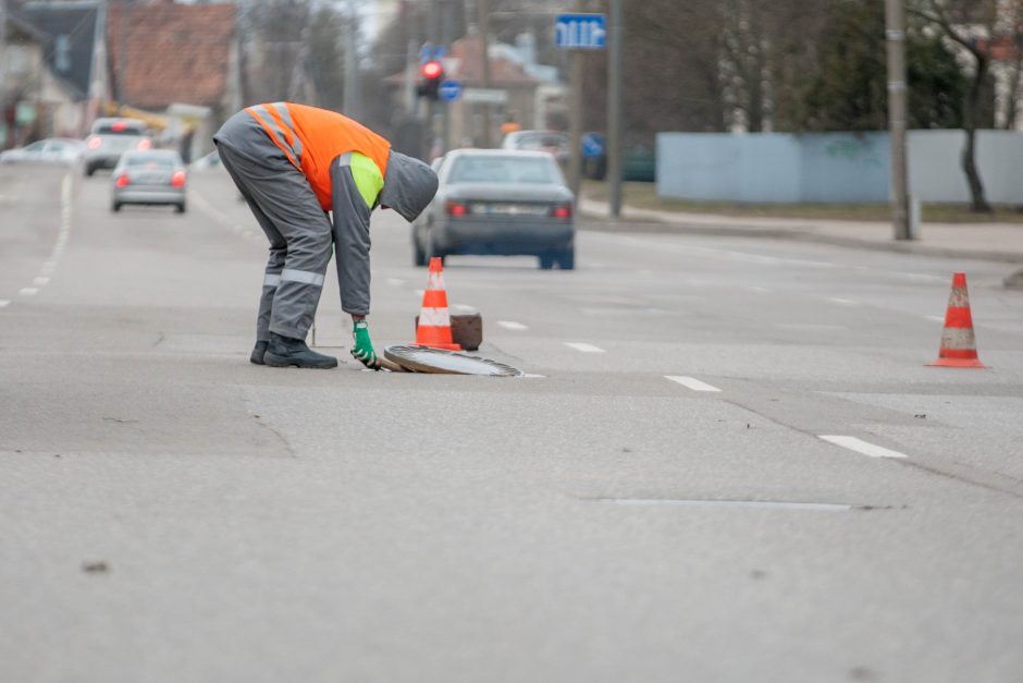
<path fill-rule="evenodd" d="M 587 220 L 579 225 L 582 230 L 595 232 L 650 232 L 650 233 L 679 233 L 716 237 L 755 237 L 767 240 L 792 240 L 797 242 L 814 242 L 852 248 L 870 249 L 874 252 L 895 252 L 898 254 L 915 254 L 919 256 L 934 256 L 938 258 L 969 258 L 1000 264 L 1023 264 L 1023 253 L 994 252 L 988 249 L 961 249 L 947 246 L 934 246 L 916 242 L 875 242 L 858 240 L 840 235 L 821 234 L 799 228 L 784 225 L 748 228 L 743 225 L 720 225 L 699 222 L 649 220 L 649 219 L 609 219 L 590 210 L 581 210 L 580 216 Z"/>

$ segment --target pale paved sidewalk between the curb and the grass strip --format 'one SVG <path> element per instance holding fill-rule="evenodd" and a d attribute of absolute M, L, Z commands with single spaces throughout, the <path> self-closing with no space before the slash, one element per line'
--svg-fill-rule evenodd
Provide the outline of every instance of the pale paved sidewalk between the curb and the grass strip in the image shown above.
<path fill-rule="evenodd" d="M 617 229 L 616 223 L 619 221 L 607 218 L 608 205 L 605 202 L 582 197 L 579 200 L 579 212 L 596 219 L 591 225 L 594 230 Z M 623 207 L 621 217 L 630 222 L 656 227 L 657 231 L 801 240 L 929 256 L 1023 264 L 1023 224 L 928 223 L 925 220 L 920 227 L 917 240 L 897 241 L 892 239 L 891 223 L 878 221 L 734 217 L 630 206 Z M 654 225 L 650 225 L 651 223 Z"/>

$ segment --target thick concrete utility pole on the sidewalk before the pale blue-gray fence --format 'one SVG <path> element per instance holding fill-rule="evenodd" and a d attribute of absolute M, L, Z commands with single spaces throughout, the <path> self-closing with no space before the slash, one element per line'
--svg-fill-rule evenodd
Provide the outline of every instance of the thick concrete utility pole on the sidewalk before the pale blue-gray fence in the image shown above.
<path fill-rule="evenodd" d="M 905 153 L 905 0 L 885 0 L 888 42 L 888 133 L 891 146 L 891 217 L 896 240 L 913 240 Z"/>

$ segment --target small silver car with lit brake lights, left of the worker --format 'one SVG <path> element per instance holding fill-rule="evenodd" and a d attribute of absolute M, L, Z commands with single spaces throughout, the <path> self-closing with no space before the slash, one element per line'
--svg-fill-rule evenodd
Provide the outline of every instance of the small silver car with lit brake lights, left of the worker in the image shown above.
<path fill-rule="evenodd" d="M 169 204 L 184 214 L 187 180 L 176 151 L 125 151 L 113 170 L 110 208 L 120 211 L 125 204 Z"/>

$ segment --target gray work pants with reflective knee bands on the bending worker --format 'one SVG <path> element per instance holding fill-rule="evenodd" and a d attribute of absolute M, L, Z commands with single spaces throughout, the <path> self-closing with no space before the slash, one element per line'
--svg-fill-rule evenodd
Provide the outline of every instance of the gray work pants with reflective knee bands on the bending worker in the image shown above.
<path fill-rule="evenodd" d="M 331 258 L 331 222 L 306 176 L 266 133 L 248 130 L 263 139 L 244 141 L 245 147 L 263 147 L 267 154 L 243 154 L 241 145 L 220 134 L 215 141 L 224 168 L 270 240 L 256 339 L 268 341 L 270 332 L 305 339 Z"/>

